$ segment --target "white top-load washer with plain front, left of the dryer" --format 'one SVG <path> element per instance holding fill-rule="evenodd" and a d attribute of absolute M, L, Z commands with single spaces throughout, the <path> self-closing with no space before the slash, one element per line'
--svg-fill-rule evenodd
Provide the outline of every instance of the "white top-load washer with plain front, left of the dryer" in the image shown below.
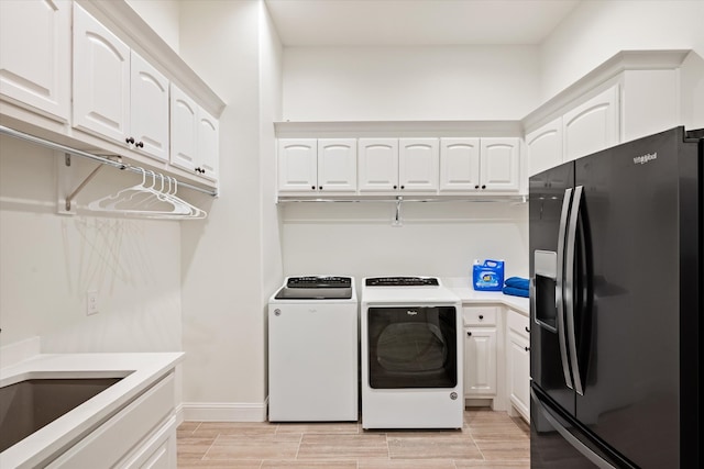
<path fill-rule="evenodd" d="M 268 420 L 358 421 L 352 277 L 287 277 L 268 303 Z"/>

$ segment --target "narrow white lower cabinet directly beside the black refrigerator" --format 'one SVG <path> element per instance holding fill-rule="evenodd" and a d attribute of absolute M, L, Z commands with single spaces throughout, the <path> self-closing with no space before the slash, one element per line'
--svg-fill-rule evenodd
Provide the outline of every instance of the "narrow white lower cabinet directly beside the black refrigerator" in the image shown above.
<path fill-rule="evenodd" d="M 530 330 L 528 317 L 516 311 L 507 312 L 506 379 L 509 415 L 530 422 Z"/>

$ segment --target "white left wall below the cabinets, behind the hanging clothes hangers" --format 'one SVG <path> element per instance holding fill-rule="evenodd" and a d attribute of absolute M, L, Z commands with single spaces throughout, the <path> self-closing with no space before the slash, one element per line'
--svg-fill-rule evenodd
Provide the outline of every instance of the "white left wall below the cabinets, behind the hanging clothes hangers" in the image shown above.
<path fill-rule="evenodd" d="M 180 350 L 178 223 L 56 214 L 61 160 L 0 137 L 0 346 L 40 336 L 46 353 Z M 72 171 L 94 167 L 74 158 Z M 102 169 L 77 203 L 139 182 L 131 176 Z"/>

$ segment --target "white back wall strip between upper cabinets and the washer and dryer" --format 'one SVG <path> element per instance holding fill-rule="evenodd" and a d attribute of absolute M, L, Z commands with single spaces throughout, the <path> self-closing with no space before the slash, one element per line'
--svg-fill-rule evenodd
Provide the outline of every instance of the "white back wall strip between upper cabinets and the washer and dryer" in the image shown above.
<path fill-rule="evenodd" d="M 395 203 L 285 204 L 285 273 L 469 279 L 474 259 L 493 258 L 528 275 L 527 204 L 407 202 L 403 226 L 394 214 Z"/>

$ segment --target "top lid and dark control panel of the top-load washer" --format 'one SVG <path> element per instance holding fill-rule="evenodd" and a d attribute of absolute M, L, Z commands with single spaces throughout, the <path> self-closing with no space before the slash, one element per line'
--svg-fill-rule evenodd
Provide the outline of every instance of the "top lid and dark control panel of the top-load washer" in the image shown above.
<path fill-rule="evenodd" d="M 337 276 L 289 277 L 276 300 L 349 300 L 352 278 Z"/>

